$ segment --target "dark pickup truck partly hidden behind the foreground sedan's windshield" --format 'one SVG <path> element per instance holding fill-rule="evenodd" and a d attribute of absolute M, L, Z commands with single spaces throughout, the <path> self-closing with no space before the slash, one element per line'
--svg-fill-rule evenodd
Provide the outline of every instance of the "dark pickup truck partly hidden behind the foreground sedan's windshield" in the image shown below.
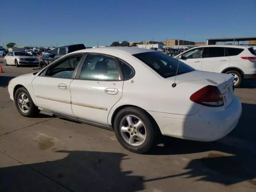
<path fill-rule="evenodd" d="M 62 46 L 62 47 L 58 47 L 55 48 L 54 50 L 52 50 L 49 54 L 49 56 L 46 58 L 46 60 L 43 60 L 40 62 L 39 67 L 42 69 L 44 67 L 46 67 L 48 64 L 50 64 L 51 62 L 55 61 L 56 59 L 77 51 L 77 50 L 82 50 L 82 49 L 86 49 L 86 47 L 84 46 L 84 44 L 74 44 L 74 45 L 67 45 L 67 46 Z"/>

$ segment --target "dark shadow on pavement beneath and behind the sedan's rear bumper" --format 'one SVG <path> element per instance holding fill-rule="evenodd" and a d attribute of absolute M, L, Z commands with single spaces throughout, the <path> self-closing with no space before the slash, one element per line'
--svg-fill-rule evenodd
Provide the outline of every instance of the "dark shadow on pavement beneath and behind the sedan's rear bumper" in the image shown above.
<path fill-rule="evenodd" d="M 166 178 L 182 176 L 225 185 L 247 181 L 256 187 L 256 105 L 243 103 L 242 108 L 242 116 L 236 128 L 218 141 L 196 142 L 164 137 L 164 146 L 156 146 L 150 154 L 204 152 L 203 157 L 188 162 L 184 168 L 186 172 Z"/>

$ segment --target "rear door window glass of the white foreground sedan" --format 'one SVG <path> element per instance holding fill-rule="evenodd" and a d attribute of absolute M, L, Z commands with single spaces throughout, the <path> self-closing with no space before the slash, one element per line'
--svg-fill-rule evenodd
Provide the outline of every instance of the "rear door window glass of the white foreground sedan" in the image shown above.
<path fill-rule="evenodd" d="M 118 80 L 116 60 L 108 56 L 89 54 L 82 66 L 79 79 Z"/>

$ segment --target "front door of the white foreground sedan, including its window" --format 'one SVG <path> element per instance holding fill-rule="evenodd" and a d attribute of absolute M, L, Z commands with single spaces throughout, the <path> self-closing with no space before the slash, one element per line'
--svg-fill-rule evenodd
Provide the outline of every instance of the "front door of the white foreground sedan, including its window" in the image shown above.
<path fill-rule="evenodd" d="M 83 54 L 66 56 L 50 65 L 32 81 L 38 107 L 73 116 L 70 84 Z"/>

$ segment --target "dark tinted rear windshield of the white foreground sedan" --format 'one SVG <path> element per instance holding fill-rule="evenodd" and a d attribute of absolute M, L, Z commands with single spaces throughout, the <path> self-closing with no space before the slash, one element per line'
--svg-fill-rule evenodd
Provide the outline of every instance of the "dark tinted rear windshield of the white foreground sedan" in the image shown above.
<path fill-rule="evenodd" d="M 144 62 L 163 78 L 175 76 L 178 65 L 177 75 L 195 70 L 187 64 L 161 52 L 144 52 L 134 54 L 133 56 Z"/>

